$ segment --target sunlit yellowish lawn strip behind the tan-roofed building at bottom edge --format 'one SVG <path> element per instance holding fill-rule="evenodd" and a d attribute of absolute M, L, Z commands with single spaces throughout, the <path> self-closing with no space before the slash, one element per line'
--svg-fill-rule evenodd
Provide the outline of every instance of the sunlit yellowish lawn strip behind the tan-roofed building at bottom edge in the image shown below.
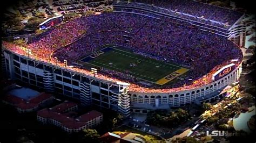
<path fill-rule="evenodd" d="M 139 130 L 136 130 L 134 128 L 131 128 L 129 126 L 121 126 L 121 127 L 118 127 L 113 133 L 116 133 L 116 134 L 123 134 L 125 132 L 131 132 L 135 135 L 138 135 L 142 138 L 144 138 L 146 140 L 146 142 L 165 142 L 165 140 L 157 137 L 157 136 L 154 136 L 154 135 L 151 135 L 151 134 L 147 134 L 145 132 L 142 132 L 142 131 L 139 131 Z"/>

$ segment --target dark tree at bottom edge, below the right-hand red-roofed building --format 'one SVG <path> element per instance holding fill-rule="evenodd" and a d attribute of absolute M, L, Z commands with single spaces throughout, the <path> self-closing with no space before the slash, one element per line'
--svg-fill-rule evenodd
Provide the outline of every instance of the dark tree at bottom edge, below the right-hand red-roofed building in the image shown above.
<path fill-rule="evenodd" d="M 99 134 L 96 130 L 85 128 L 83 130 L 83 136 L 86 142 L 98 142 Z"/>

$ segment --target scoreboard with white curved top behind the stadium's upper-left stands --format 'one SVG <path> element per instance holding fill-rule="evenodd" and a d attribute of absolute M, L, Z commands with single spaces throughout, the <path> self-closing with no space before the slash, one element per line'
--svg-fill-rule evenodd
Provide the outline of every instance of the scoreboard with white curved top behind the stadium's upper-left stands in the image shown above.
<path fill-rule="evenodd" d="M 39 29 L 44 30 L 51 26 L 57 25 L 57 24 L 61 23 L 63 21 L 63 19 L 64 19 L 64 16 L 56 16 L 56 17 L 49 18 L 49 19 L 45 20 L 43 23 L 39 24 Z"/>

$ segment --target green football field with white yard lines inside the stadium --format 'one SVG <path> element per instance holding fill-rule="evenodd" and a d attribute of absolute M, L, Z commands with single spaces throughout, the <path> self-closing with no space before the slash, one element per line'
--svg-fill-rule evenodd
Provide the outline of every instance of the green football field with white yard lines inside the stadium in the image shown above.
<path fill-rule="evenodd" d="M 92 66 L 129 73 L 134 77 L 160 85 L 169 82 L 164 79 L 166 76 L 169 76 L 178 70 L 185 69 L 183 67 L 171 65 L 170 63 L 145 58 L 142 55 L 122 51 L 113 47 L 101 49 L 80 61 L 89 63 Z M 160 83 L 159 81 L 161 81 L 161 79 L 165 81 Z"/>

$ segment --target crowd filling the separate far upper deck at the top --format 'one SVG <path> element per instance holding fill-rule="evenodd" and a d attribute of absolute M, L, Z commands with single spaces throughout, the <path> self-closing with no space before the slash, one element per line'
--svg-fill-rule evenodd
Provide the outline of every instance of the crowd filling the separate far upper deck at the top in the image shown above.
<path fill-rule="evenodd" d="M 143 5 L 143 4 L 136 4 L 136 3 L 128 3 L 130 6 L 136 6 L 139 8 L 145 8 L 150 9 L 154 11 L 164 12 L 168 13 L 169 15 L 174 15 L 178 17 L 183 17 L 186 19 L 195 20 L 198 22 L 211 24 L 219 27 L 224 27 L 223 24 L 228 23 L 228 25 L 233 25 L 242 15 L 243 13 L 233 11 L 226 8 L 220 8 L 219 6 L 214 6 L 210 4 L 204 4 L 196 1 L 187 1 L 187 0 L 172 0 L 172 1 L 142 1 L 138 0 L 136 1 L 138 3 L 146 3 L 149 5 Z M 154 6 L 152 6 L 152 3 Z M 118 5 L 127 5 L 126 2 L 119 2 Z M 159 9 L 164 8 L 163 9 Z M 169 11 L 168 11 L 169 10 Z M 178 15 L 176 12 L 186 13 L 191 16 L 186 15 Z M 209 20 L 202 20 L 200 17 L 203 17 L 204 19 L 214 20 L 215 22 L 219 23 L 213 23 Z M 228 27 L 229 28 L 229 27 Z"/>

